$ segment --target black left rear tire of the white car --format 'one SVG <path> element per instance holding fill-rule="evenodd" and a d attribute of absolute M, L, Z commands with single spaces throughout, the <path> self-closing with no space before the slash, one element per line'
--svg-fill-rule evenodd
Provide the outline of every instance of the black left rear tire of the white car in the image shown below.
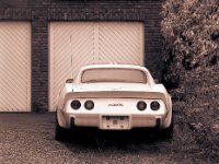
<path fill-rule="evenodd" d="M 59 126 L 58 119 L 56 118 L 56 130 L 55 130 L 55 139 L 57 141 L 66 141 L 69 137 L 69 130 Z"/>

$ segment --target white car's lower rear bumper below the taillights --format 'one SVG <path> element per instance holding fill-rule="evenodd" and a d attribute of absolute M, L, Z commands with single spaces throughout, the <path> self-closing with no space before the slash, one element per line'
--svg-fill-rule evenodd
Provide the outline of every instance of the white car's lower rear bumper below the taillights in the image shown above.
<path fill-rule="evenodd" d="M 104 114 L 70 114 L 58 112 L 59 125 L 64 128 L 96 127 L 103 130 L 129 130 L 132 128 L 164 128 L 166 115 L 104 115 Z M 106 117 L 126 118 L 117 126 L 106 122 Z M 108 126 L 110 125 L 110 126 Z"/>

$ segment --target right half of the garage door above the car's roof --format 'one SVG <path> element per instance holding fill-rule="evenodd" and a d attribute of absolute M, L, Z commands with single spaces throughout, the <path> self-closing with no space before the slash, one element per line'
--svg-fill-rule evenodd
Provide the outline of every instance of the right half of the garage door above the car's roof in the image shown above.
<path fill-rule="evenodd" d="M 143 27 L 141 23 L 101 23 L 100 40 L 102 48 L 100 58 L 107 58 L 118 63 L 142 65 Z"/>

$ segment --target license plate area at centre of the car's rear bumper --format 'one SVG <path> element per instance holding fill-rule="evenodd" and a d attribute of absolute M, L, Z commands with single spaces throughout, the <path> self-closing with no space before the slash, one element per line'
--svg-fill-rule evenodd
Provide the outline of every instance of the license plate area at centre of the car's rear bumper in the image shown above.
<path fill-rule="evenodd" d="M 129 129 L 128 116 L 102 116 L 103 129 Z"/>

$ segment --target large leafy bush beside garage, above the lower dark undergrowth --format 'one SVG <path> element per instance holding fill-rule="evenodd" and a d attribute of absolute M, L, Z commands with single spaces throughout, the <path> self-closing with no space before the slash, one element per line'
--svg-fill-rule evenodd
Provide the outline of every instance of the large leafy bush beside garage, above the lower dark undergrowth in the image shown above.
<path fill-rule="evenodd" d="M 218 62 L 219 1 L 165 0 L 162 17 L 163 83 L 174 89 L 186 71 Z"/>

